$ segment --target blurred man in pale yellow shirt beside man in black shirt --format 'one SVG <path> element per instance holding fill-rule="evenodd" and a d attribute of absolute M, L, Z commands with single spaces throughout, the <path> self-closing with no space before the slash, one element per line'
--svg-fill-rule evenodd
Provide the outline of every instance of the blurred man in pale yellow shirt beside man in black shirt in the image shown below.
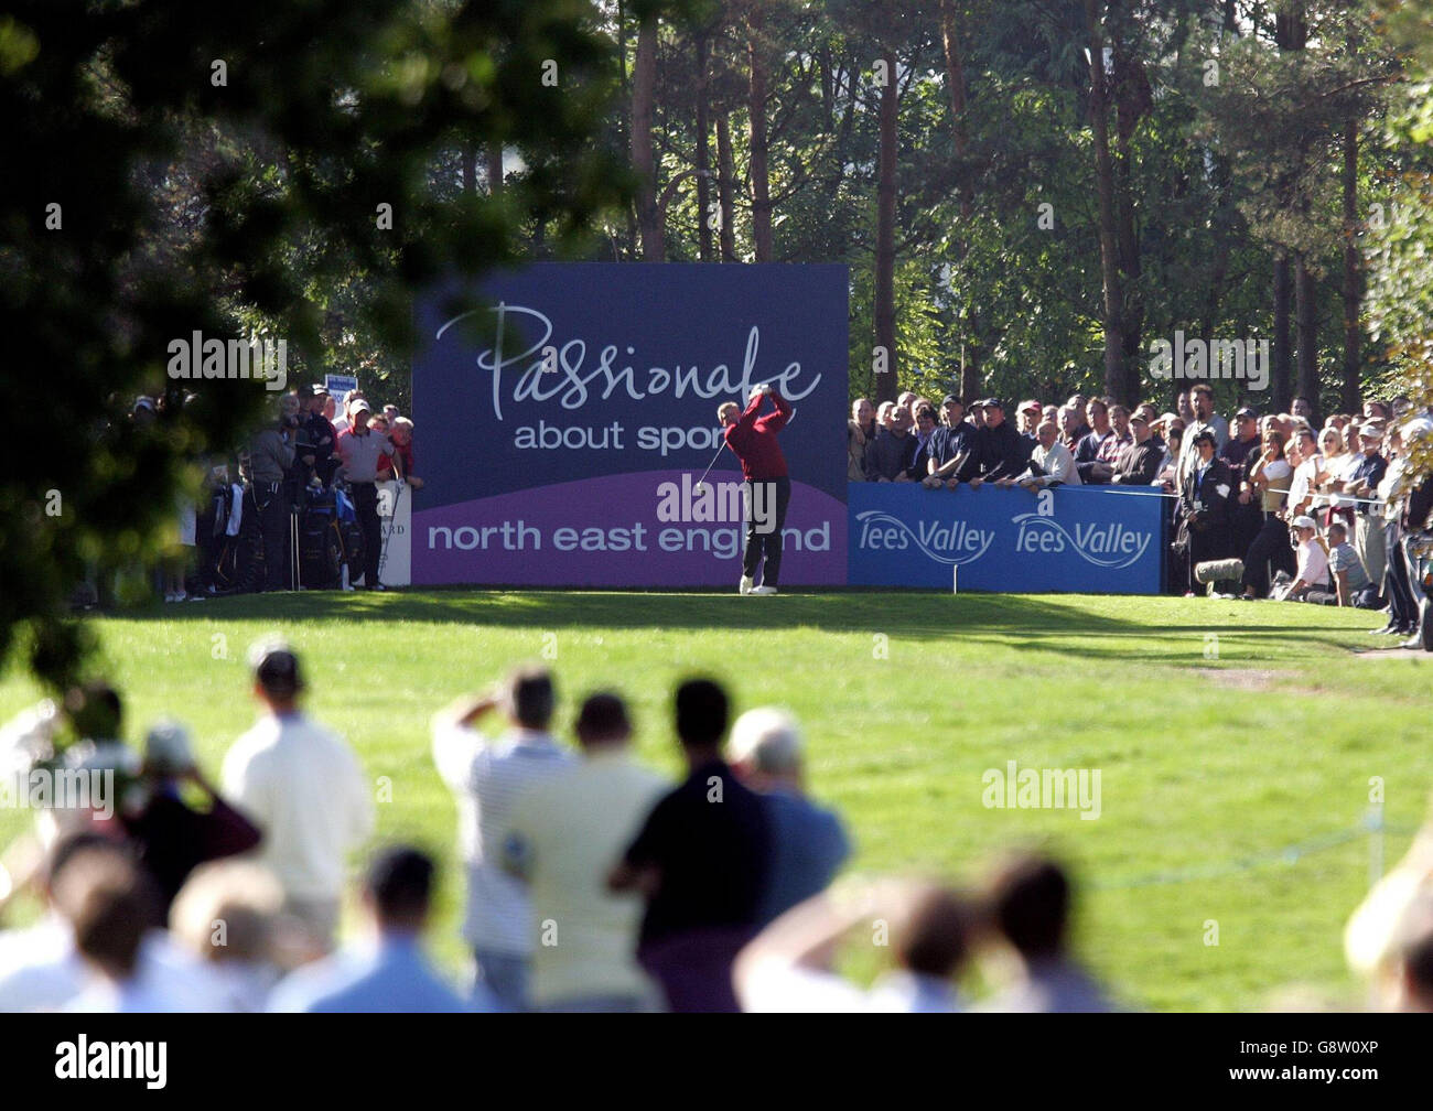
<path fill-rule="evenodd" d="M 543 945 L 533 950 L 537 1011 L 652 1011 L 638 966 L 642 900 L 606 889 L 613 862 L 671 788 L 631 758 L 632 723 L 616 694 L 593 694 L 575 725 L 582 761 L 513 803 L 504 857 L 527 880 Z"/>

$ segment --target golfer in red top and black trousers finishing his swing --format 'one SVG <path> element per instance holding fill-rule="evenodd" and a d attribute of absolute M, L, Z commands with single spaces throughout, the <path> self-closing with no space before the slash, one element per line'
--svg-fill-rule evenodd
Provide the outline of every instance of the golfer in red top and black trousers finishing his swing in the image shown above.
<path fill-rule="evenodd" d="M 758 417 L 761 399 L 770 397 L 775 413 Z M 741 460 L 742 503 L 747 513 L 747 548 L 741 553 L 741 593 L 775 593 L 781 578 L 781 529 L 787 522 L 791 502 L 791 479 L 787 460 L 777 443 L 777 433 L 791 420 L 791 406 L 770 386 L 751 390 L 747 410 L 727 401 L 716 410 L 716 420 L 725 431 L 727 446 Z M 757 565 L 765 555 L 761 586 L 755 585 Z"/>

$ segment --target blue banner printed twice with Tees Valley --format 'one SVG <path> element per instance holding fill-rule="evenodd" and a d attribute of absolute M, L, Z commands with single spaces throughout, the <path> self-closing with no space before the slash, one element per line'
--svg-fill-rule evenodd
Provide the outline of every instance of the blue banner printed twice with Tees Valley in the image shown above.
<path fill-rule="evenodd" d="M 1154 487 L 1030 493 L 851 483 L 853 586 L 1003 593 L 1159 593 L 1164 497 Z"/>

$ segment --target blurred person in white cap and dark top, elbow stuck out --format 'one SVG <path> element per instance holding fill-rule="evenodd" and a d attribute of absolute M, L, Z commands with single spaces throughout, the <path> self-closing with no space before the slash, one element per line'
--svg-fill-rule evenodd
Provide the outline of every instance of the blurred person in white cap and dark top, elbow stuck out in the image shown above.
<path fill-rule="evenodd" d="M 189 747 L 189 730 L 178 721 L 150 727 L 139 778 L 138 809 L 126 806 L 120 819 L 139 863 L 155 882 L 160 913 L 168 916 L 169 905 L 195 866 L 246 853 L 261 834 L 209 786 Z M 185 803 L 181 791 L 186 783 L 208 797 L 206 810 Z"/>

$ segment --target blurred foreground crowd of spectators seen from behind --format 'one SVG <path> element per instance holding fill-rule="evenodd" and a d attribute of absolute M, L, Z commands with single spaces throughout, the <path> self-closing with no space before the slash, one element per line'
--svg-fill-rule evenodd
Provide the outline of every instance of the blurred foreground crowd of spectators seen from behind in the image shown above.
<path fill-rule="evenodd" d="M 218 787 L 176 723 L 132 751 L 122 700 L 103 684 L 0 731 L 4 774 L 105 768 L 119 798 L 56 797 L 7 850 L 0 915 L 24 889 L 43 913 L 0 932 L 0 1011 L 1118 1006 L 1072 953 L 1073 889 L 1055 860 L 1006 857 L 973 889 L 840 877 L 851 840 L 807 793 L 795 718 L 764 707 L 728 728 L 728 695 L 704 678 L 672 701 L 685 766 L 675 784 L 633 758 L 613 691 L 582 701 L 576 745 L 565 744 L 555 678 L 540 667 L 437 712 L 433 757 L 459 804 L 461 935 L 476 975 L 460 986 L 428 956 L 441 876 L 410 844 L 370 854 L 355 892 L 361 936 L 340 945 L 348 860 L 374 834 L 373 791 L 342 737 L 304 712 L 294 651 L 259 644 L 251 668 L 258 720 L 226 753 Z M 1384 1003 L 1407 1009 L 1433 1009 L 1430 843 L 1420 837 L 1350 923 L 1350 960 Z M 863 948 L 883 965 L 868 986 L 841 971 Z"/>

